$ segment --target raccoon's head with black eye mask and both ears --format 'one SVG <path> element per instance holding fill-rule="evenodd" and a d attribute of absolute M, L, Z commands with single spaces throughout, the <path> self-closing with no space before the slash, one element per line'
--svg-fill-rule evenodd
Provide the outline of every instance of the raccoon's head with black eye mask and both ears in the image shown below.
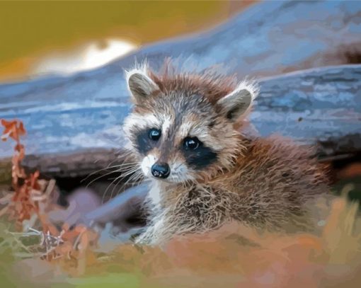
<path fill-rule="evenodd" d="M 127 72 L 134 108 L 124 131 L 147 178 L 184 183 L 230 168 L 239 152 L 241 122 L 258 93 L 210 76 L 156 76 L 147 68 Z"/>

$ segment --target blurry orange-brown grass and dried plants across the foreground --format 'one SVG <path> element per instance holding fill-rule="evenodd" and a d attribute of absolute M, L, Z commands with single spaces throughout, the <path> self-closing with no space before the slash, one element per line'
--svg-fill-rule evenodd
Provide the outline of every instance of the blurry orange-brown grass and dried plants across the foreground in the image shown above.
<path fill-rule="evenodd" d="M 66 225 L 57 231 L 47 221 L 47 209 L 41 208 L 46 189 L 40 189 L 38 175 L 21 168 L 23 127 L 3 125 L 17 147 L 13 192 L 1 199 L 8 203 L 1 210 L 4 217 L 16 220 L 0 226 L 0 276 L 7 287 L 357 287 L 361 281 L 361 218 L 358 203 L 347 200 L 350 187 L 331 205 L 310 206 L 314 219 L 324 219 L 310 224 L 312 233 L 280 234 L 230 223 L 217 231 L 178 236 L 161 247 L 122 244 L 99 253 L 93 231 Z M 33 217 L 42 231 L 11 229 Z M 38 240 L 29 241 L 30 236 Z"/>

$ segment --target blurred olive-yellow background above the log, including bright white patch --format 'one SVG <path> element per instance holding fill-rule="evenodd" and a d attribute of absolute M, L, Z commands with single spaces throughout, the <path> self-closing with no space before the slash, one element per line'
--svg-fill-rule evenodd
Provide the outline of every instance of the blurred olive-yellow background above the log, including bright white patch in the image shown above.
<path fill-rule="evenodd" d="M 251 1 L 0 1 L 0 82 L 100 67 L 212 28 Z"/>

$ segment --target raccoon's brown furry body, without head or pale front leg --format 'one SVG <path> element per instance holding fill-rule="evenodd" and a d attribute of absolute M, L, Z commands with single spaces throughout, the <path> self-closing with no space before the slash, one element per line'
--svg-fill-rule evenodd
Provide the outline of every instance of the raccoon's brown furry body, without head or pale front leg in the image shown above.
<path fill-rule="evenodd" d="M 309 197 L 327 192 L 326 167 L 308 149 L 281 137 L 243 139 L 243 144 L 246 149 L 228 171 L 167 191 L 162 205 L 174 207 L 174 221 L 182 219 L 197 226 L 195 230 L 215 228 L 231 219 L 279 229 L 304 212 Z M 201 209 L 207 212 L 202 214 Z"/>

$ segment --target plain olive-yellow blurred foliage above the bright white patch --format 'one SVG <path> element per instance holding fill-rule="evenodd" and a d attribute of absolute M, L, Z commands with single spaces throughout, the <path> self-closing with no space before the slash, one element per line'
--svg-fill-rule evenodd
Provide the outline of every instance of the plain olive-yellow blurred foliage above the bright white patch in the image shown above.
<path fill-rule="evenodd" d="M 0 1 L 0 64 L 84 40 L 138 44 L 186 33 L 229 13 L 228 1 Z"/>

